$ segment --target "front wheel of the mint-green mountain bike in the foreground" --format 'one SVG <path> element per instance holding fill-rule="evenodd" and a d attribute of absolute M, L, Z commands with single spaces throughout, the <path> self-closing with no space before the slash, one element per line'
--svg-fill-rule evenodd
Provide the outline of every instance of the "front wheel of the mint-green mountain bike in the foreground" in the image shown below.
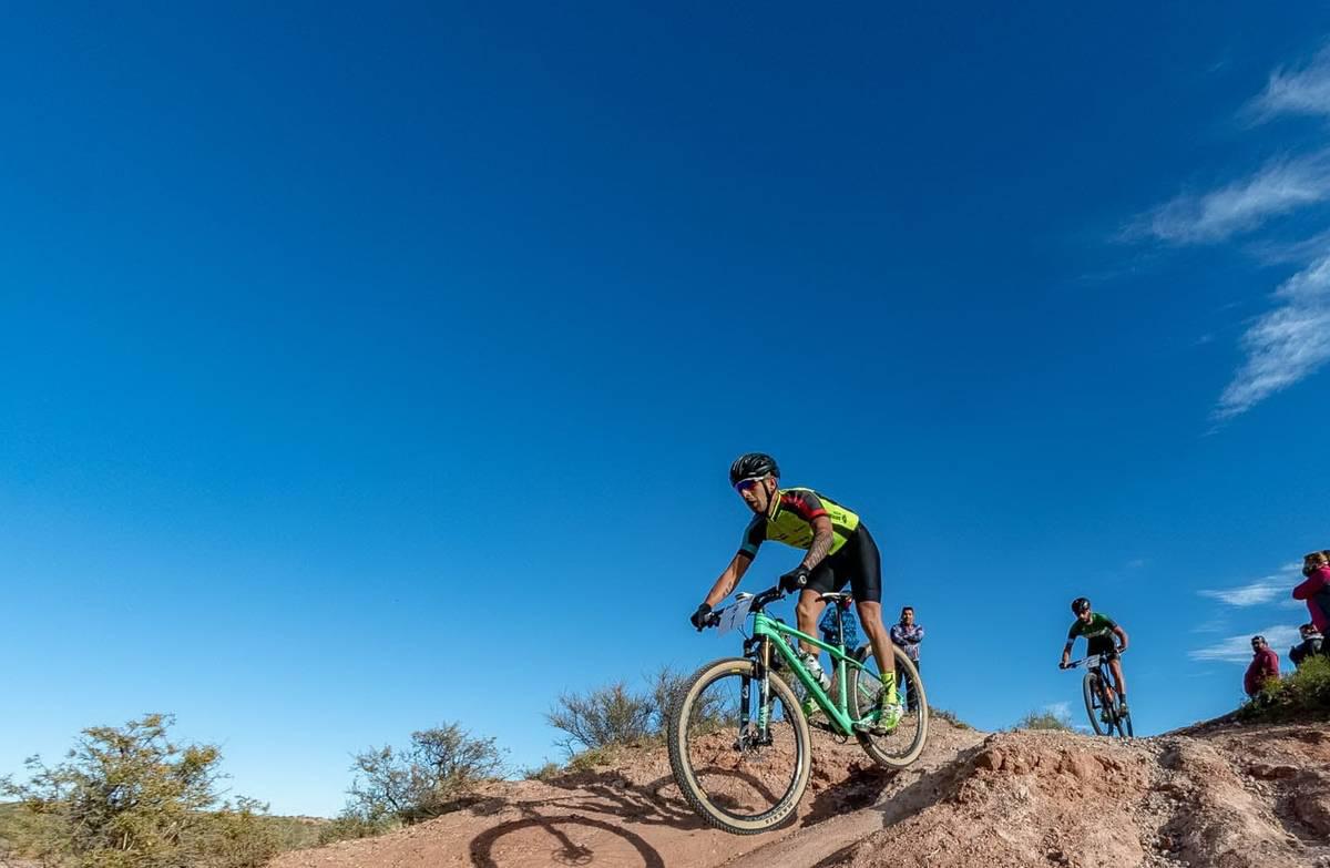
<path fill-rule="evenodd" d="M 794 817 L 809 785 L 809 723 L 779 676 L 762 708 L 753 660 L 700 668 L 674 700 L 669 761 L 693 809 L 716 828 L 753 835 Z"/>

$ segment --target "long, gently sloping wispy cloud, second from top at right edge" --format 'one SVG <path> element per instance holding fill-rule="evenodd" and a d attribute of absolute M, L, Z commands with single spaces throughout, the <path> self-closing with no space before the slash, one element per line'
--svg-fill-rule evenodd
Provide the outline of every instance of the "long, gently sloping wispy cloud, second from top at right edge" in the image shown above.
<path fill-rule="evenodd" d="M 1326 200 L 1330 200 L 1327 154 L 1279 158 L 1217 190 L 1177 196 L 1136 218 L 1125 234 L 1169 244 L 1213 244 Z"/>

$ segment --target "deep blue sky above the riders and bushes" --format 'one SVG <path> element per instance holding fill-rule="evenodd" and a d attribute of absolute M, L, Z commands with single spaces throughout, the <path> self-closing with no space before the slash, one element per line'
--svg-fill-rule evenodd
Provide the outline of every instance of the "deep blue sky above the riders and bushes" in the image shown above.
<path fill-rule="evenodd" d="M 444 720 L 555 758 L 561 690 L 735 650 L 686 616 L 749 449 L 863 515 L 982 727 L 1076 702 L 1077 594 L 1145 732 L 1305 619 L 1317 7 L 3 29 L 0 772 L 152 710 L 286 813 Z"/>

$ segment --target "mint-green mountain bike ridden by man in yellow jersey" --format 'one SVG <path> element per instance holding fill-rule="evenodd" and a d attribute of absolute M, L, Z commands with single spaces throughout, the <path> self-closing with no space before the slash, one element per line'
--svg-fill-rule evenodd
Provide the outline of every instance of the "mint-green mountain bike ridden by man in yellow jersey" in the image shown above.
<path fill-rule="evenodd" d="M 753 635 L 743 642 L 743 656 L 697 670 L 669 710 L 674 781 L 706 823 L 735 835 L 763 832 L 794 817 L 809 785 L 810 726 L 843 740 L 857 739 L 868 756 L 888 768 L 919 759 L 928 738 L 923 682 L 900 648 L 892 646 L 895 671 L 878 672 L 871 654 L 822 642 L 762 611 L 783 595 L 779 587 L 741 594 L 734 606 L 713 612 L 709 626 L 722 631 L 742 628 L 751 616 Z M 838 634 L 833 638 L 843 640 L 841 606 L 850 595 L 823 594 L 821 599 L 837 604 Z M 830 691 L 809 674 L 787 636 L 831 654 L 835 680 Z M 802 686 L 807 711 L 789 674 Z M 888 727 L 879 722 L 878 700 L 883 690 L 895 690 L 898 674 L 910 679 L 918 702 L 908 711 L 898 707 L 900 720 Z"/>

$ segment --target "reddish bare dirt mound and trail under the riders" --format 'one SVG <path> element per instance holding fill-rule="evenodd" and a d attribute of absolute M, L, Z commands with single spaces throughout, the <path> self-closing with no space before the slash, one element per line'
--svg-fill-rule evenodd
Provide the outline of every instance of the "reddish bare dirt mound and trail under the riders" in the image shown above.
<path fill-rule="evenodd" d="M 706 827 L 664 751 L 641 748 L 614 768 L 495 784 L 439 820 L 273 868 L 1330 868 L 1330 724 L 1132 743 L 932 726 L 903 772 L 815 734 L 798 819 L 765 835 Z"/>

